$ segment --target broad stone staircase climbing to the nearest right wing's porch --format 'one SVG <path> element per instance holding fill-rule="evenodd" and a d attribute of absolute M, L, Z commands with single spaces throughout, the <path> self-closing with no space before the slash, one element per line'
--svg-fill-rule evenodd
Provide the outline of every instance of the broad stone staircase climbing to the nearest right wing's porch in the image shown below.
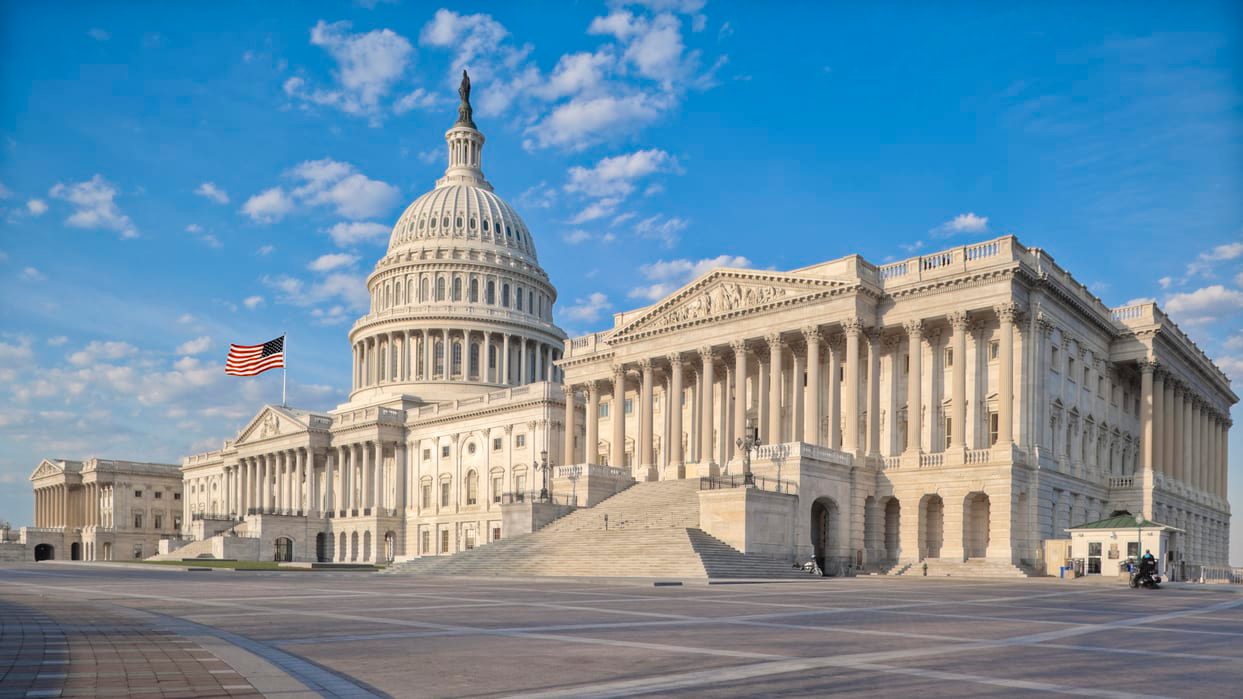
<path fill-rule="evenodd" d="M 605 529 L 608 515 L 608 529 Z M 791 563 L 745 556 L 699 530 L 699 480 L 640 483 L 544 529 L 452 556 L 424 556 L 384 573 L 807 578 Z"/>

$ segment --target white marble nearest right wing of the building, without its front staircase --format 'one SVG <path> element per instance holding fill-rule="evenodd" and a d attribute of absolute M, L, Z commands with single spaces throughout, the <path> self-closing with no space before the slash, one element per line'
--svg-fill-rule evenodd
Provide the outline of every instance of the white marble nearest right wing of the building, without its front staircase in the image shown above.
<path fill-rule="evenodd" d="M 1178 560 L 1226 562 L 1227 377 L 1155 303 L 1109 308 L 1013 236 L 716 270 L 561 366 L 574 461 L 738 474 L 758 428 L 799 555 L 1038 567 L 1043 540 L 1126 509 L 1185 530 Z"/>

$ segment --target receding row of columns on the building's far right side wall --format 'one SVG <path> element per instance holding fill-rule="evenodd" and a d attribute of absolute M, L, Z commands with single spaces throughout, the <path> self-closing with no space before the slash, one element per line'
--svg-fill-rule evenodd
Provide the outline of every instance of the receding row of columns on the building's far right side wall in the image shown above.
<path fill-rule="evenodd" d="M 1140 362 L 1142 466 L 1226 498 L 1231 419 L 1155 361 Z"/>

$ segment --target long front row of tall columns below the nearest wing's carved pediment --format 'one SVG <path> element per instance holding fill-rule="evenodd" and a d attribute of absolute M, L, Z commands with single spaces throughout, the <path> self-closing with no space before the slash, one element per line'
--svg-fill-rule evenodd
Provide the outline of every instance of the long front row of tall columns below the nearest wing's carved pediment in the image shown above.
<path fill-rule="evenodd" d="M 999 328 L 997 356 L 997 445 L 1014 442 L 1014 332 L 1018 307 L 1003 303 L 992 308 Z M 967 424 L 967 372 L 971 364 L 966 357 L 966 335 L 973 316 L 955 312 L 945 316 L 952 336 L 950 347 L 956 361 L 951 371 L 951 400 L 947 450 L 970 449 L 966 437 Z M 840 335 L 828 342 L 824 351 L 827 326 L 804 327 L 797 332 L 774 332 L 763 338 L 743 337 L 721 346 L 701 347 L 697 351 L 672 352 L 664 357 L 641 357 L 633 362 L 614 363 L 608 379 L 588 379 L 567 386 L 571 396 L 578 389 L 587 392 L 587 444 L 582 459 L 595 460 L 599 443 L 599 403 L 605 391 L 612 392 L 612 439 L 608 461 L 625 464 L 626 420 L 622 412 L 625 405 L 628 377 L 634 374 L 638 396 L 638 458 L 634 465 L 681 465 L 685 463 L 723 463 L 741 458 L 735 438 L 747 429 L 748 420 L 758 428 L 766 444 L 807 442 L 839 449 L 854 456 L 884 456 L 886 454 L 921 454 L 935 445 L 924 439 L 922 424 L 932 419 L 937 407 L 925 405 L 922 394 L 926 325 L 924 320 L 911 320 L 901 326 L 900 333 L 890 328 L 868 328 L 860 318 L 846 318 L 834 330 Z M 885 347 L 883 352 L 881 347 Z M 890 381 L 890 394 L 881 396 L 881 358 L 889 358 L 889 376 L 902 371 L 901 347 L 909 356 L 906 371 L 906 396 L 899 396 L 897 382 Z M 866 367 L 864 362 L 866 353 Z M 752 372 L 751 358 L 755 358 Z M 789 369 L 787 371 L 787 357 Z M 827 357 L 827 362 L 824 361 Z M 732 361 L 730 361 L 732 359 Z M 822 373 L 822 369 L 827 369 Z M 588 369 L 590 371 L 590 369 Z M 598 369 L 595 369 L 598 371 Z M 663 433 L 672 435 L 660 454 L 653 448 L 655 424 L 654 384 L 660 372 L 665 387 L 665 425 Z M 805 382 L 803 379 L 805 374 Z M 822 377 L 827 374 L 828 381 Z M 840 377 L 840 381 L 839 381 Z M 987 382 L 987 373 L 976 376 L 977 386 Z M 690 394 L 690 439 L 682 444 L 682 410 L 679 404 L 669 405 L 670 397 L 684 396 L 684 386 Z M 750 392 L 755 392 L 750 394 Z M 978 393 L 978 391 L 977 391 Z M 715 398 L 722 398 L 720 405 Z M 884 403 L 884 404 L 883 404 Z M 972 400 L 979 410 L 978 400 Z M 567 400 L 572 405 L 573 400 Z M 911 408 L 914 407 L 914 408 Z M 924 408 L 929 408 L 927 415 Z M 750 415 L 748 415 L 750 410 Z M 881 413 L 890 415 L 890 444 L 881 443 Z M 566 424 L 573 425 L 572 410 L 567 410 Z M 900 422 L 906 414 L 914 415 L 911 428 L 905 430 L 905 444 L 899 443 Z M 978 414 L 976 417 L 984 417 Z M 935 423 L 933 423 L 935 424 Z M 902 424 L 905 428 L 905 424 Z M 567 429 L 567 454 L 573 447 L 573 429 Z M 979 444 L 976 447 L 989 447 Z M 572 460 L 579 456 L 573 453 Z"/>

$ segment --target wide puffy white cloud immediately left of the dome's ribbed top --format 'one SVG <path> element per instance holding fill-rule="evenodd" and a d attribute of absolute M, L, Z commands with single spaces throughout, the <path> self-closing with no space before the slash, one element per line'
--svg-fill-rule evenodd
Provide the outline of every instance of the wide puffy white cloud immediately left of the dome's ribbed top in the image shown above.
<path fill-rule="evenodd" d="M 285 177 L 298 184 L 288 192 L 281 187 L 266 189 L 246 200 L 242 211 L 255 221 L 273 223 L 297 205 L 332 206 L 347 219 L 365 219 L 385 214 L 401 194 L 392 184 L 370 179 L 354 165 L 331 158 L 300 163 Z"/>

